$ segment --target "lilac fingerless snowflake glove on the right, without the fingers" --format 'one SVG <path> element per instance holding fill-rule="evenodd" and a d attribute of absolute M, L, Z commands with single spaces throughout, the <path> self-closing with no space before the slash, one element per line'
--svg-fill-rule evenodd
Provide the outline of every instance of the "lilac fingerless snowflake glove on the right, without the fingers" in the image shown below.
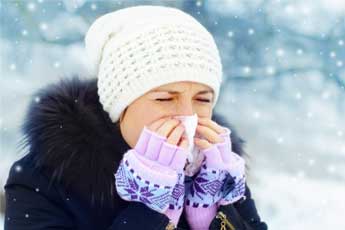
<path fill-rule="evenodd" d="M 201 150 L 205 159 L 186 193 L 186 215 L 192 229 L 207 228 L 218 205 L 234 203 L 244 197 L 245 161 L 232 152 L 230 133 L 220 134 L 224 142 Z"/>

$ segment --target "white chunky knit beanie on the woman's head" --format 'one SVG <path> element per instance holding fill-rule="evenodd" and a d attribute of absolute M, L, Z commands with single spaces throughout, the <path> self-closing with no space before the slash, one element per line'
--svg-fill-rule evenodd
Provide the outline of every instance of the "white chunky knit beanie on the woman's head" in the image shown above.
<path fill-rule="evenodd" d="M 213 107 L 218 100 L 222 64 L 216 43 L 177 8 L 140 5 L 107 13 L 90 26 L 85 46 L 112 122 L 135 99 L 172 82 L 205 84 L 214 90 Z"/>

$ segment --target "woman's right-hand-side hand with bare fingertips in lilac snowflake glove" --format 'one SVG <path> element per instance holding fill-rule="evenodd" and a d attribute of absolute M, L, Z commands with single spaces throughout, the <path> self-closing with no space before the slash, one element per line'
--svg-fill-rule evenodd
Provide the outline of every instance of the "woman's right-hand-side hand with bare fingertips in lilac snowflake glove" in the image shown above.
<path fill-rule="evenodd" d="M 208 118 L 200 118 L 195 144 L 205 155 L 204 164 L 194 179 L 187 205 L 208 207 L 218 201 L 232 203 L 244 196 L 245 162 L 232 152 L 231 131 Z"/>

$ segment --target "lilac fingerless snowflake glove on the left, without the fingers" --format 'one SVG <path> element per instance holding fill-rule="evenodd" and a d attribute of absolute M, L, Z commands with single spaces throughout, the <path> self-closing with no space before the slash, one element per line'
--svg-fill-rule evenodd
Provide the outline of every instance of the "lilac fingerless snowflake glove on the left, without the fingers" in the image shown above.
<path fill-rule="evenodd" d="M 122 199 L 142 202 L 177 224 L 184 203 L 187 152 L 166 140 L 144 127 L 134 149 L 121 160 L 115 185 Z"/>

